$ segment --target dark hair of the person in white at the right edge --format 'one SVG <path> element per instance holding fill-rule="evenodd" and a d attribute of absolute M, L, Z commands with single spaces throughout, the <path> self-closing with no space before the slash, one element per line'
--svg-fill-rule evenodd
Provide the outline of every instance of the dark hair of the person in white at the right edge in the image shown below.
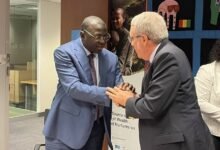
<path fill-rule="evenodd" d="M 220 61 L 220 39 L 216 40 L 210 52 L 211 61 Z"/>

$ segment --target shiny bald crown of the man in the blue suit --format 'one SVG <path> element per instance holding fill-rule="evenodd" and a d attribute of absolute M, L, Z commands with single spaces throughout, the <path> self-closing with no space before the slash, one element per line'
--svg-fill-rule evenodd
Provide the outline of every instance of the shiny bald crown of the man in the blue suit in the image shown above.
<path fill-rule="evenodd" d="M 106 27 L 106 24 L 101 18 L 97 16 L 88 16 L 83 20 L 81 24 L 81 30 L 84 30 L 84 29 L 87 30 L 89 27 L 92 27 L 92 26 L 105 26 Z"/>

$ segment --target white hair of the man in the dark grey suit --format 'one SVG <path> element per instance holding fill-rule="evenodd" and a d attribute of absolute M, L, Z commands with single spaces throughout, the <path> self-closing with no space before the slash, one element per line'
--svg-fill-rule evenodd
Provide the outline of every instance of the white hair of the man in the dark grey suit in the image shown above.
<path fill-rule="evenodd" d="M 143 12 L 136 15 L 131 26 L 135 26 L 136 34 L 146 34 L 154 43 L 168 38 L 168 30 L 164 18 L 156 12 Z"/>

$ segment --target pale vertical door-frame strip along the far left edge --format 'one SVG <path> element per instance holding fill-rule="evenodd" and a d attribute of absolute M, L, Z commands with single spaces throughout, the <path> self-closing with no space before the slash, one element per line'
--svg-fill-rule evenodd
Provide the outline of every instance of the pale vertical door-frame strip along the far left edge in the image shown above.
<path fill-rule="evenodd" d="M 9 42 L 9 1 L 0 1 L 0 59 L 8 52 Z M 0 60 L 0 61 L 1 61 Z M 8 150 L 8 102 L 9 87 L 8 76 L 6 74 L 6 63 L 0 64 L 0 150 Z"/>

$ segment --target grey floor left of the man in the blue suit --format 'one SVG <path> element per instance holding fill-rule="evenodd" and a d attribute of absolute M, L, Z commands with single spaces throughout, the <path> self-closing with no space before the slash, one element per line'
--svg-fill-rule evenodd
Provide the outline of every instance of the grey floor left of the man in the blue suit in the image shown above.
<path fill-rule="evenodd" d="M 37 115 L 10 119 L 9 150 L 34 150 L 35 144 L 44 143 L 43 122 Z"/>

